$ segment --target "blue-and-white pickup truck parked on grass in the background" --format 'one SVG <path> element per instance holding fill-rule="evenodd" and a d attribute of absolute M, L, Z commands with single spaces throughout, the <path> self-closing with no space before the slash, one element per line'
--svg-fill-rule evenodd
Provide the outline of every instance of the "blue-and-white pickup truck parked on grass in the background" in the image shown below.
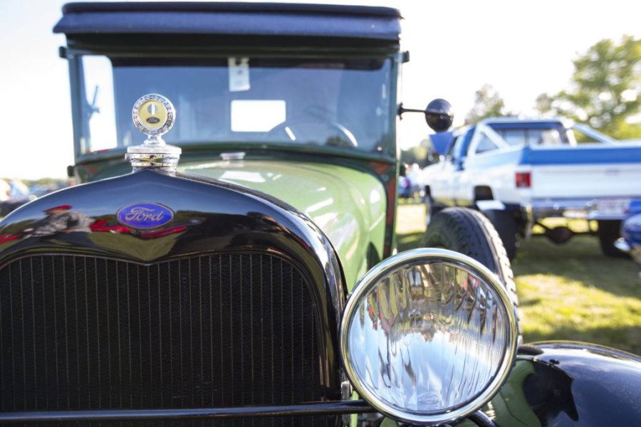
<path fill-rule="evenodd" d="M 534 224 L 555 243 L 573 236 L 543 218 L 585 218 L 598 221 L 589 233 L 605 255 L 623 254 L 614 243 L 631 201 L 641 199 L 639 142 L 617 142 L 565 120 L 516 118 L 483 120 L 445 139 L 440 161 L 424 169 L 428 223 L 447 206 L 479 209 L 514 258 L 518 236 L 529 238 Z"/>

